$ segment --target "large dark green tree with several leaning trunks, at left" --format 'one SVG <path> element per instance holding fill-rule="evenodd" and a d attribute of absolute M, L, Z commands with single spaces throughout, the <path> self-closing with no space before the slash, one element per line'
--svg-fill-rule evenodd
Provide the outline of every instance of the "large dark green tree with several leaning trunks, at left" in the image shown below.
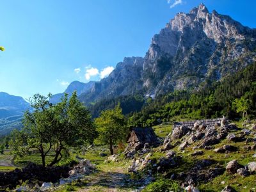
<path fill-rule="evenodd" d="M 36 94 L 29 100 L 33 112 L 26 111 L 21 131 L 13 132 L 13 153 L 19 156 L 37 150 L 45 166 L 45 157 L 54 152 L 48 166 L 58 163 L 69 147 L 92 143 L 95 138 L 90 112 L 77 99 L 76 92 L 70 99 L 68 95 L 61 102 L 53 105 L 47 97 Z"/>

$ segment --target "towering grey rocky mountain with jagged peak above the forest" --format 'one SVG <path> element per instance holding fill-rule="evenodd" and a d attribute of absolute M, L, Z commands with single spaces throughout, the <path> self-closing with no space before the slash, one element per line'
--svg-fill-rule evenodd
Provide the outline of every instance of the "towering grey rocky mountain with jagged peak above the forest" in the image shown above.
<path fill-rule="evenodd" d="M 108 77 L 79 99 L 90 104 L 120 95 L 155 97 L 173 90 L 198 89 L 256 61 L 256 29 L 243 26 L 204 4 L 178 13 L 154 35 L 144 58 L 124 58 Z"/>

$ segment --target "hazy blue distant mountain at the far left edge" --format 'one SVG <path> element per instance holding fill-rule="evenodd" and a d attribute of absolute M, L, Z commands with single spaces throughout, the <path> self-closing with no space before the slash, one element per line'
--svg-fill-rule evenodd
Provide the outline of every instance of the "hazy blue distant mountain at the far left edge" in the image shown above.
<path fill-rule="evenodd" d="M 22 97 L 0 92 L 0 135 L 19 129 L 27 109 L 30 109 L 30 105 Z"/>

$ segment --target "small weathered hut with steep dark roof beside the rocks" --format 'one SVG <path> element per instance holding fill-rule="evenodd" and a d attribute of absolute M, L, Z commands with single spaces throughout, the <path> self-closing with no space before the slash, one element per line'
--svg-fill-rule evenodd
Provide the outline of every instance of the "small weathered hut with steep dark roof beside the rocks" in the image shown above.
<path fill-rule="evenodd" d="M 156 146 L 159 144 L 159 141 L 152 127 L 134 127 L 131 129 L 127 143 L 127 149 L 140 150 L 144 147 L 145 143 L 148 143 L 150 146 Z"/>

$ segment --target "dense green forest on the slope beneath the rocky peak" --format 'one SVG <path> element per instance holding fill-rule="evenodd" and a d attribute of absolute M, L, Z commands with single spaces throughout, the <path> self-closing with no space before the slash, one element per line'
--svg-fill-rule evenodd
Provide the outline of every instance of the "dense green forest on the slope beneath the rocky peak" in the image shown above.
<path fill-rule="evenodd" d="M 129 114 L 128 124 L 148 127 L 172 121 L 174 116 L 200 119 L 225 115 L 235 118 L 240 117 L 238 108 L 244 115 L 256 114 L 256 63 L 221 82 L 207 81 L 197 91 L 175 91 L 148 100 L 140 112 Z"/>

